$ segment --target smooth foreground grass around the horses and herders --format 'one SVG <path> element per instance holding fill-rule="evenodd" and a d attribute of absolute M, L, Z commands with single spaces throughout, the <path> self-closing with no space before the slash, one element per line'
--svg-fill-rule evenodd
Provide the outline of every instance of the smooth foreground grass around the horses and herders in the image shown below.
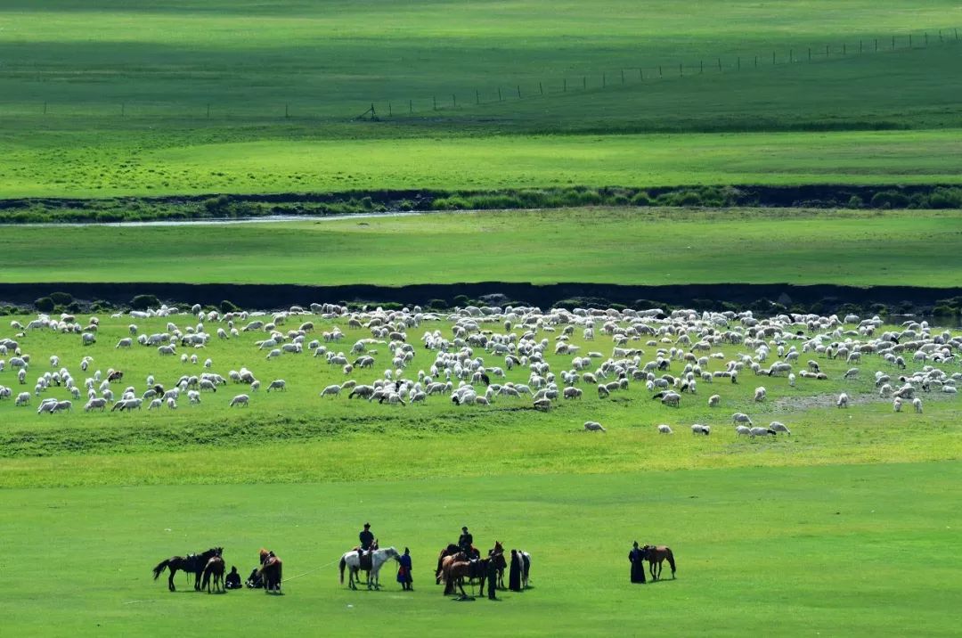
<path fill-rule="evenodd" d="M 487 445 L 503 447 L 494 437 Z M 644 461 L 647 450 L 637 454 Z M 417 455 L 403 447 L 393 463 Z M 50 636 L 265 623 L 284 635 L 957 633 L 957 462 L 538 477 L 477 470 L 452 451 L 451 467 L 427 480 L 3 490 L 0 506 L 17 512 L 0 521 L 4 537 L 17 539 L 4 564 L 20 574 L 5 588 L 4 626 Z M 391 566 L 381 592 L 338 583 L 332 563 L 367 520 L 383 543 L 411 548 L 415 592 L 402 595 Z M 533 587 L 499 593 L 496 603 L 444 600 L 434 557 L 462 524 L 483 549 L 500 540 L 531 552 Z M 625 555 L 636 539 L 668 543 L 677 579 L 630 585 Z M 194 594 L 180 574 L 170 594 L 151 580 L 169 555 L 212 544 L 244 576 L 263 546 L 284 559 L 286 577 L 304 575 L 280 598 Z"/>

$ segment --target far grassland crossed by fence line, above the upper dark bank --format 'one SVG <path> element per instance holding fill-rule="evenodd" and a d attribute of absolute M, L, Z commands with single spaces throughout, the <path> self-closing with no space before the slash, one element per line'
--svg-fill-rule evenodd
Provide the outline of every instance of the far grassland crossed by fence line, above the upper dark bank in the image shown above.
<path fill-rule="evenodd" d="M 47 1 L 5 4 L 3 16 L 4 197 L 932 184 L 962 172 L 962 13 L 950 2 L 692 13 L 615 0 L 403 11 Z M 872 52 L 855 54 L 859 40 Z M 685 77 L 658 77 L 659 64 L 683 64 Z M 352 121 L 371 102 L 382 121 Z M 756 135 L 705 134 L 747 130 Z"/>

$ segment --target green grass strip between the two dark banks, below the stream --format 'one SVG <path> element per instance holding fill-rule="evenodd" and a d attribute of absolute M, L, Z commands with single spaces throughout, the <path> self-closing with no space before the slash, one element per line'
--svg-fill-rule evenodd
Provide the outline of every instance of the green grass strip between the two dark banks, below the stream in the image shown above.
<path fill-rule="evenodd" d="M 574 209 L 189 227 L 9 227 L 7 282 L 566 281 L 949 287 L 957 211 Z M 42 246 L 42 260 L 24 259 Z M 105 259 L 109 256 L 109 259 Z M 844 256 L 844 259 L 841 257 Z"/>

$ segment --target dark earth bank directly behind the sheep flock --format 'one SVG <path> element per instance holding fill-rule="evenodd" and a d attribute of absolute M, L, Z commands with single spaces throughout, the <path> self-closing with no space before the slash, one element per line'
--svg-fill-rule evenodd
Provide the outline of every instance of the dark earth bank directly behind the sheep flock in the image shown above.
<path fill-rule="evenodd" d="M 310 303 L 396 303 L 430 305 L 443 309 L 469 301 L 495 304 L 525 303 L 548 308 L 554 305 L 656 306 L 710 310 L 750 308 L 763 314 L 837 312 L 920 312 L 936 306 L 956 305 L 962 288 L 908 286 L 794 286 L 790 284 L 690 284 L 673 286 L 617 286 L 611 284 L 481 282 L 471 284 L 417 284 L 412 286 L 295 286 L 284 284 L 179 284 L 179 283 L 53 283 L 2 284 L 0 299 L 32 306 L 40 297 L 68 293 L 74 299 L 102 300 L 129 307 L 138 295 L 176 303 L 220 306 L 229 301 L 241 308 L 287 308 Z M 947 302 L 948 300 L 948 302 Z"/>

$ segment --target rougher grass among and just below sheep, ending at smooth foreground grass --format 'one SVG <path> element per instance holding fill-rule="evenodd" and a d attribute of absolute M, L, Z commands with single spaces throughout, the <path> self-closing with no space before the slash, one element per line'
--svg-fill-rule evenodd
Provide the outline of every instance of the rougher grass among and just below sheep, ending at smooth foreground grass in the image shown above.
<path fill-rule="evenodd" d="M 152 334 L 165 330 L 165 320 L 138 321 L 142 332 Z M 342 322 L 346 337 L 338 349 L 348 351 L 366 330 L 349 329 Z M 148 374 L 153 374 L 165 387 L 172 387 L 182 374 L 197 374 L 199 365 L 182 363 L 179 357 L 161 357 L 153 347 L 136 346 L 117 349 L 116 342 L 127 335 L 128 320 L 105 318 L 96 345 L 82 347 L 76 335 L 58 335 L 31 331 L 20 340 L 22 351 L 32 355 L 28 383 L 16 383 L 15 373 L 8 368 L 0 372 L 0 383 L 18 393 L 33 390 L 36 376 L 49 368 L 51 355 L 61 365 L 78 370 L 81 357 L 93 357 L 96 370 L 124 370 L 124 383 L 138 394 L 145 388 Z M 329 330 L 328 321 L 317 319 L 318 331 Z M 449 327 L 444 322 L 426 323 L 410 329 L 414 342 L 425 329 Z M 544 337 L 551 339 L 550 332 Z M 227 376 L 228 370 L 247 367 L 264 384 L 275 378 L 288 382 L 284 393 L 261 391 L 253 396 L 249 408 L 229 408 L 232 396 L 249 392 L 246 385 L 229 384 L 220 392 L 205 393 L 199 405 L 189 405 L 186 397 L 176 411 L 164 408 L 157 412 L 146 409 L 135 414 L 98 412 L 84 413 L 80 407 L 86 398 L 76 401 L 70 414 L 38 415 L 35 407 L 15 407 L 13 401 L 0 403 L 0 454 L 4 464 L 0 485 L 30 486 L 103 483 L 189 482 L 218 483 L 237 481 L 290 480 L 357 480 L 364 477 L 400 479 L 429 477 L 443 467 L 443 459 L 452 441 L 474 441 L 479 445 L 479 473 L 515 468 L 521 473 L 638 471 L 642 468 L 727 468 L 772 465 L 822 465 L 847 461 L 866 463 L 879 460 L 924 461 L 955 458 L 959 452 L 959 432 L 955 427 L 957 405 L 954 397 L 935 393 L 925 397 L 928 404 L 923 417 L 906 413 L 894 414 L 889 401 L 877 398 L 873 371 L 898 370 L 879 360 L 866 361 L 859 379 L 842 380 L 848 369 L 843 361 L 823 361 L 831 373 L 828 381 L 799 379 L 791 388 L 784 377 L 743 375 L 742 383 L 731 384 L 720 379 L 700 385 L 700 394 L 686 397 L 680 409 L 671 409 L 648 399 L 644 384 L 634 384 L 626 393 L 610 399 L 599 399 L 594 388 L 585 385 L 581 400 L 563 401 L 550 413 L 531 409 L 530 399 L 503 398 L 489 407 L 455 406 L 446 396 L 434 396 L 424 405 L 388 406 L 364 400 L 348 400 L 318 396 L 319 391 L 348 378 L 369 383 L 382 376 L 390 366 L 385 346 L 372 345 L 375 355 L 373 370 L 355 370 L 345 375 L 340 366 L 330 366 L 323 357 L 310 354 L 288 355 L 266 360 L 265 351 L 255 342 L 260 333 L 241 333 L 231 340 L 217 340 L 197 350 L 199 360 L 210 357 L 213 371 Z M 607 340 L 604 340 L 607 341 Z M 610 354 L 603 343 L 587 343 L 572 339 L 589 349 Z M 642 345 L 642 344 L 637 344 Z M 663 344 L 664 345 L 664 344 Z M 643 360 L 654 356 L 655 347 L 646 346 Z M 723 370 L 724 361 L 745 352 L 740 346 L 723 349 L 722 360 L 712 360 L 708 370 Z M 497 365 L 497 358 L 488 365 Z M 570 365 L 570 357 L 549 355 L 552 370 Z M 429 368 L 433 356 L 418 352 L 409 374 Z M 946 369 L 955 371 L 949 364 Z M 89 370 L 92 373 L 92 370 Z M 78 377 L 84 378 L 82 372 Z M 528 370 L 512 370 L 507 379 L 527 381 Z M 722 382 L 723 381 L 723 382 Z M 82 385 L 78 384 L 78 385 Z M 751 400 L 755 386 L 764 385 L 770 400 L 757 404 Z M 840 392 L 857 396 L 859 405 L 851 410 L 838 410 L 834 398 Z M 15 394 L 15 393 L 14 393 Z M 723 407 L 709 409 L 707 396 L 722 396 Z M 42 396 L 66 398 L 63 388 L 53 388 Z M 864 404 L 863 404 L 864 403 Z M 736 441 L 730 417 L 746 412 L 756 421 L 786 421 L 795 436 L 777 441 Z M 768 421 L 766 421 L 768 420 Z M 606 435 L 579 431 L 584 421 L 600 421 L 611 430 Z M 669 422 L 678 429 L 675 437 L 657 434 L 655 425 Z M 686 432 L 693 422 L 708 422 L 719 428 L 710 439 L 693 438 Z M 908 424 L 913 425 L 909 426 Z M 484 440 L 494 438 L 503 447 L 486 449 Z M 396 444 L 417 447 L 418 455 L 402 466 L 392 463 Z M 276 452 L 283 460 L 271 460 L 274 473 L 266 470 L 262 446 Z M 649 454 L 641 457 L 637 449 Z M 231 459 L 225 470 L 201 462 L 214 449 Z M 339 457 L 359 456 L 364 463 L 340 464 Z M 273 458 L 275 454 L 270 454 Z M 323 462 L 320 462 L 324 459 Z M 484 463 L 481 463 L 484 462 Z M 178 472 L 165 471 L 172 464 Z M 492 464 L 489 466 L 488 464 Z"/>

